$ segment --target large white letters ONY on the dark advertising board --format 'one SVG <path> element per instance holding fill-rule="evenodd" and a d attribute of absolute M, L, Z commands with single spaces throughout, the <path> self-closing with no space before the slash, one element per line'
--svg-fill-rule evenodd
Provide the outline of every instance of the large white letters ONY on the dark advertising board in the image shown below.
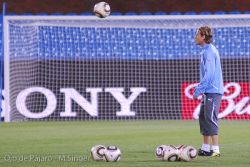
<path fill-rule="evenodd" d="M 131 111 L 131 104 L 135 99 L 147 89 L 143 87 L 130 88 L 130 96 L 126 98 L 123 94 L 124 88 L 104 88 L 104 92 L 110 93 L 120 104 L 121 110 L 116 111 L 116 116 L 135 116 L 135 111 Z M 34 113 L 30 111 L 26 106 L 27 97 L 34 92 L 43 94 L 47 100 L 46 108 L 39 112 Z M 73 88 L 61 88 L 60 93 L 64 94 L 65 99 L 65 111 L 60 112 L 60 117 L 76 117 L 77 113 L 72 111 L 72 102 L 76 102 L 81 108 L 83 108 L 89 115 L 98 116 L 98 94 L 103 92 L 103 88 L 86 88 L 86 92 L 90 93 L 90 101 L 86 100 L 79 92 Z M 57 107 L 57 98 L 55 94 L 44 87 L 30 87 L 22 90 L 16 99 L 17 110 L 27 118 L 45 118 L 51 115 Z"/>

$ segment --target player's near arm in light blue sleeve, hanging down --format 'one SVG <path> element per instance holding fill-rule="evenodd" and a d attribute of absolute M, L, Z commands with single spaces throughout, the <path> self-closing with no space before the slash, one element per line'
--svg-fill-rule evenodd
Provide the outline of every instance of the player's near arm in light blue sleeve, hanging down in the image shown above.
<path fill-rule="evenodd" d="M 194 98 L 197 98 L 200 94 L 204 93 L 209 83 L 211 82 L 215 72 L 215 59 L 213 53 L 205 53 L 204 55 L 205 75 L 201 79 L 198 86 L 195 88 Z"/>

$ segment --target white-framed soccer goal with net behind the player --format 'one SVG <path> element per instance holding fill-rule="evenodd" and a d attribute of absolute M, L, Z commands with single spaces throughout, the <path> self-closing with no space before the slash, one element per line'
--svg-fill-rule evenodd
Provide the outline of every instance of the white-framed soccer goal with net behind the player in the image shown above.
<path fill-rule="evenodd" d="M 250 15 L 6 16 L 5 121 L 197 119 L 204 25 L 222 61 L 219 118 L 249 119 Z"/>

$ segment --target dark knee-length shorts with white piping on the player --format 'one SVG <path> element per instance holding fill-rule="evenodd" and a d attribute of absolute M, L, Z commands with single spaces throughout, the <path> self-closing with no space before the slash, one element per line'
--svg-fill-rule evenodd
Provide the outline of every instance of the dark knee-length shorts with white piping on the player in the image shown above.
<path fill-rule="evenodd" d="M 218 114 L 222 95 L 205 93 L 199 115 L 200 132 L 205 136 L 218 135 Z"/>

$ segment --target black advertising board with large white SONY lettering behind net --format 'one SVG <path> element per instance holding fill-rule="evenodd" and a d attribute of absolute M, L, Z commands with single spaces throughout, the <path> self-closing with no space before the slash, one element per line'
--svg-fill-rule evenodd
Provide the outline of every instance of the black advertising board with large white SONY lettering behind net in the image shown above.
<path fill-rule="evenodd" d="M 183 119 L 183 83 L 199 81 L 199 60 L 36 63 L 35 80 L 31 74 L 10 75 L 33 80 L 11 89 L 14 120 Z M 224 81 L 249 83 L 249 64 L 222 59 Z"/>

